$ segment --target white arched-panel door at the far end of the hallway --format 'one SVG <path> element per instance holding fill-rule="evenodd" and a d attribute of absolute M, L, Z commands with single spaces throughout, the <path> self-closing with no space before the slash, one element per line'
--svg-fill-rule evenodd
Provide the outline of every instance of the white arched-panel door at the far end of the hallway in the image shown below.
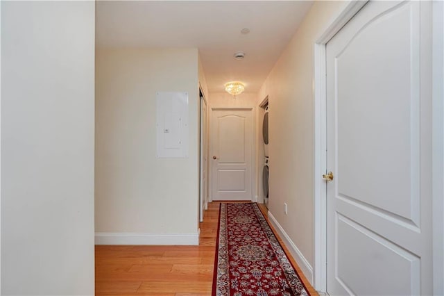
<path fill-rule="evenodd" d="M 212 109 L 212 200 L 251 200 L 253 110 Z"/>

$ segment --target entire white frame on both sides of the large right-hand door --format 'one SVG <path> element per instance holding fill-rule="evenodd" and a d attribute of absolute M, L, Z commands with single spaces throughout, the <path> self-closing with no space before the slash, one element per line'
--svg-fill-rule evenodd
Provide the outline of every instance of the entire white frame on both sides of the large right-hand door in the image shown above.
<path fill-rule="evenodd" d="M 436 2 L 436 3 L 435 3 Z M 327 173 L 327 129 L 326 129 L 326 50 L 325 46 L 341 28 L 354 17 L 368 1 L 347 1 L 343 9 L 333 18 L 314 42 L 314 283 L 316 290 L 327 291 L 327 188 L 321 178 Z M 444 94 L 443 83 L 443 38 L 444 3 L 433 5 L 433 116 L 432 133 L 433 179 L 432 201 L 433 246 L 434 246 L 434 295 L 444 294 Z M 436 263 L 436 264 L 435 264 Z"/>

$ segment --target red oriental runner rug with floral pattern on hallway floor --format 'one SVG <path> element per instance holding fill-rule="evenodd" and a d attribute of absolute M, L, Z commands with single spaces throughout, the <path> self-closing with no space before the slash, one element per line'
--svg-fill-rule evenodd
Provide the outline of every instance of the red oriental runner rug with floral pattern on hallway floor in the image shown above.
<path fill-rule="evenodd" d="M 257 204 L 221 204 L 212 295 L 309 295 Z"/>

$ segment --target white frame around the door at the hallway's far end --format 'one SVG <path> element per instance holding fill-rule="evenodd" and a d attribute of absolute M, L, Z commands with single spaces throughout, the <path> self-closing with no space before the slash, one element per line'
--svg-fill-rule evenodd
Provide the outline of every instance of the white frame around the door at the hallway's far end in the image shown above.
<path fill-rule="evenodd" d="M 213 131 L 212 131 L 212 123 L 213 123 L 213 120 L 214 120 L 214 117 L 213 117 L 213 111 L 215 111 L 215 110 L 246 110 L 246 111 L 250 111 L 250 113 L 251 113 L 251 126 L 252 126 L 252 129 L 253 129 L 253 138 L 252 138 L 252 144 L 251 144 L 251 172 L 250 172 L 250 174 L 251 174 L 251 184 L 250 184 L 250 186 L 251 186 L 251 201 L 252 202 L 255 202 L 255 196 L 257 196 L 256 194 L 255 194 L 255 188 L 256 188 L 256 180 L 255 180 L 255 178 L 254 178 L 254 175 L 255 175 L 255 167 L 256 167 L 256 134 L 257 134 L 257 132 L 256 132 L 256 130 L 257 130 L 257 126 L 256 126 L 256 124 L 255 124 L 255 112 L 253 112 L 254 111 L 254 108 L 253 107 L 234 107 L 234 108 L 230 108 L 230 107 L 210 107 L 210 110 L 211 110 L 211 112 L 210 112 L 210 117 L 209 117 L 209 122 L 208 122 L 208 131 L 209 131 L 209 136 L 208 136 L 208 150 L 209 150 L 209 154 L 208 154 L 208 157 L 211 157 L 211 153 L 210 152 L 212 152 L 212 133 L 213 133 Z M 208 180 L 207 180 L 207 183 L 208 183 L 208 192 L 209 192 L 209 195 L 210 195 L 210 202 L 212 202 L 213 201 L 213 195 L 212 195 L 212 192 L 213 192 L 213 162 L 212 161 L 210 161 L 210 164 L 208 165 L 208 167 L 209 167 L 209 169 L 208 169 Z"/>

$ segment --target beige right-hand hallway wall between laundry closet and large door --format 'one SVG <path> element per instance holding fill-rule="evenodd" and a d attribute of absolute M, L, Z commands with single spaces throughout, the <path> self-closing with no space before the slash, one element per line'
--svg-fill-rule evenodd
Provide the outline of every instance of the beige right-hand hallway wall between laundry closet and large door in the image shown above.
<path fill-rule="evenodd" d="M 346 2 L 315 2 L 259 90 L 268 95 L 269 210 L 314 265 L 314 43 Z M 258 101 L 258 103 L 259 103 Z M 284 214 L 288 204 L 288 215 Z M 311 275 L 306 274 L 311 278 Z"/>

